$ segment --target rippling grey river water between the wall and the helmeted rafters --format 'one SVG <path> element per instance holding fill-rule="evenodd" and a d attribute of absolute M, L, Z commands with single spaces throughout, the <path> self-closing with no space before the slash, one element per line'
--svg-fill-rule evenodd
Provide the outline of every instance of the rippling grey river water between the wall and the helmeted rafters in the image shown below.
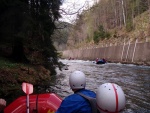
<path fill-rule="evenodd" d="M 86 74 L 86 89 L 96 92 L 103 83 L 116 83 L 122 87 L 126 96 L 126 107 L 123 113 L 150 113 L 150 67 L 132 64 L 107 63 L 95 64 L 92 61 L 60 60 L 68 65 L 68 70 L 57 69 L 55 81 L 49 90 L 64 98 L 72 94 L 68 77 L 80 70 Z"/>

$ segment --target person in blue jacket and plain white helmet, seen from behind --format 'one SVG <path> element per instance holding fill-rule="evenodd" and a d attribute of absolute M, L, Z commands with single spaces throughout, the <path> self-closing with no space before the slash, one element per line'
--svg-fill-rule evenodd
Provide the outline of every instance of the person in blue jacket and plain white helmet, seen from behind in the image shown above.
<path fill-rule="evenodd" d="M 96 98 L 95 92 L 85 89 L 85 74 L 82 71 L 74 71 L 69 76 L 69 84 L 74 94 L 67 96 L 55 113 L 92 113 L 90 103 L 80 95 Z"/>

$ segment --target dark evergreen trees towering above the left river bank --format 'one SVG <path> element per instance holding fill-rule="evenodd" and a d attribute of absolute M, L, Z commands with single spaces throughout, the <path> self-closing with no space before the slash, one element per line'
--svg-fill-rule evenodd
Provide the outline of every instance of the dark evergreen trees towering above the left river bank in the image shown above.
<path fill-rule="evenodd" d="M 57 51 L 51 35 L 54 22 L 59 19 L 61 0 L 1 0 L 0 1 L 0 42 L 12 47 L 12 58 L 26 62 L 26 49 L 39 51 L 42 64 L 52 57 L 58 64 Z"/>

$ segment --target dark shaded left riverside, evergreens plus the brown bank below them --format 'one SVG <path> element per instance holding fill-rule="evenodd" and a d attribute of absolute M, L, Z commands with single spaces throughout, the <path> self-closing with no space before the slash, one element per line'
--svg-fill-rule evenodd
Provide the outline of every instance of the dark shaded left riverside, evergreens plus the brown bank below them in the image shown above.
<path fill-rule="evenodd" d="M 59 53 L 51 35 L 62 2 L 0 0 L 0 97 L 8 103 L 22 94 L 22 82 L 42 86 L 56 74 Z"/>

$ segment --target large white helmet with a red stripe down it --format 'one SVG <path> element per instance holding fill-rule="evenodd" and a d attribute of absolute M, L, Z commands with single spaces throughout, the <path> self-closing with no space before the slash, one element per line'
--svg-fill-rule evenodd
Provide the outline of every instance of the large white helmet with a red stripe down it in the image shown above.
<path fill-rule="evenodd" d="M 105 83 L 98 87 L 96 102 L 101 113 L 118 113 L 125 107 L 125 94 L 117 84 Z"/>

